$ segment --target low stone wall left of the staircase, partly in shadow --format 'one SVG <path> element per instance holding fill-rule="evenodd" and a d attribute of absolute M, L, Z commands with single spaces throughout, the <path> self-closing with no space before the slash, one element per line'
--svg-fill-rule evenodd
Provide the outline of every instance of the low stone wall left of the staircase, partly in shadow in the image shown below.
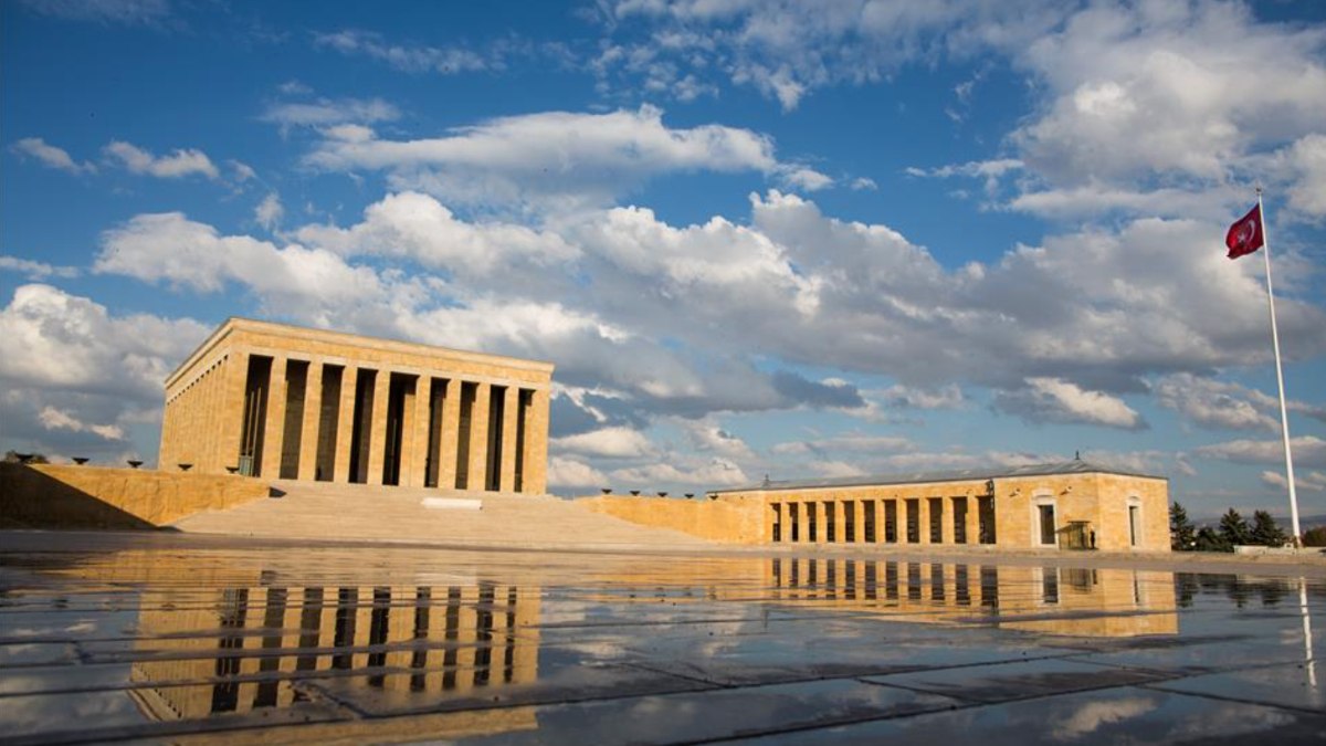
<path fill-rule="evenodd" d="M 0 527 L 156 528 L 268 494 L 247 477 L 0 463 Z"/>

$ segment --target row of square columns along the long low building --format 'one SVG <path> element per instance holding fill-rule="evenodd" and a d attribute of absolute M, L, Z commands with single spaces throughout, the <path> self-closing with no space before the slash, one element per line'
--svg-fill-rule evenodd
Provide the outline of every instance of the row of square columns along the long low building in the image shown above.
<path fill-rule="evenodd" d="M 983 495 L 772 499 L 768 538 L 809 544 L 993 544 L 994 500 Z"/>

